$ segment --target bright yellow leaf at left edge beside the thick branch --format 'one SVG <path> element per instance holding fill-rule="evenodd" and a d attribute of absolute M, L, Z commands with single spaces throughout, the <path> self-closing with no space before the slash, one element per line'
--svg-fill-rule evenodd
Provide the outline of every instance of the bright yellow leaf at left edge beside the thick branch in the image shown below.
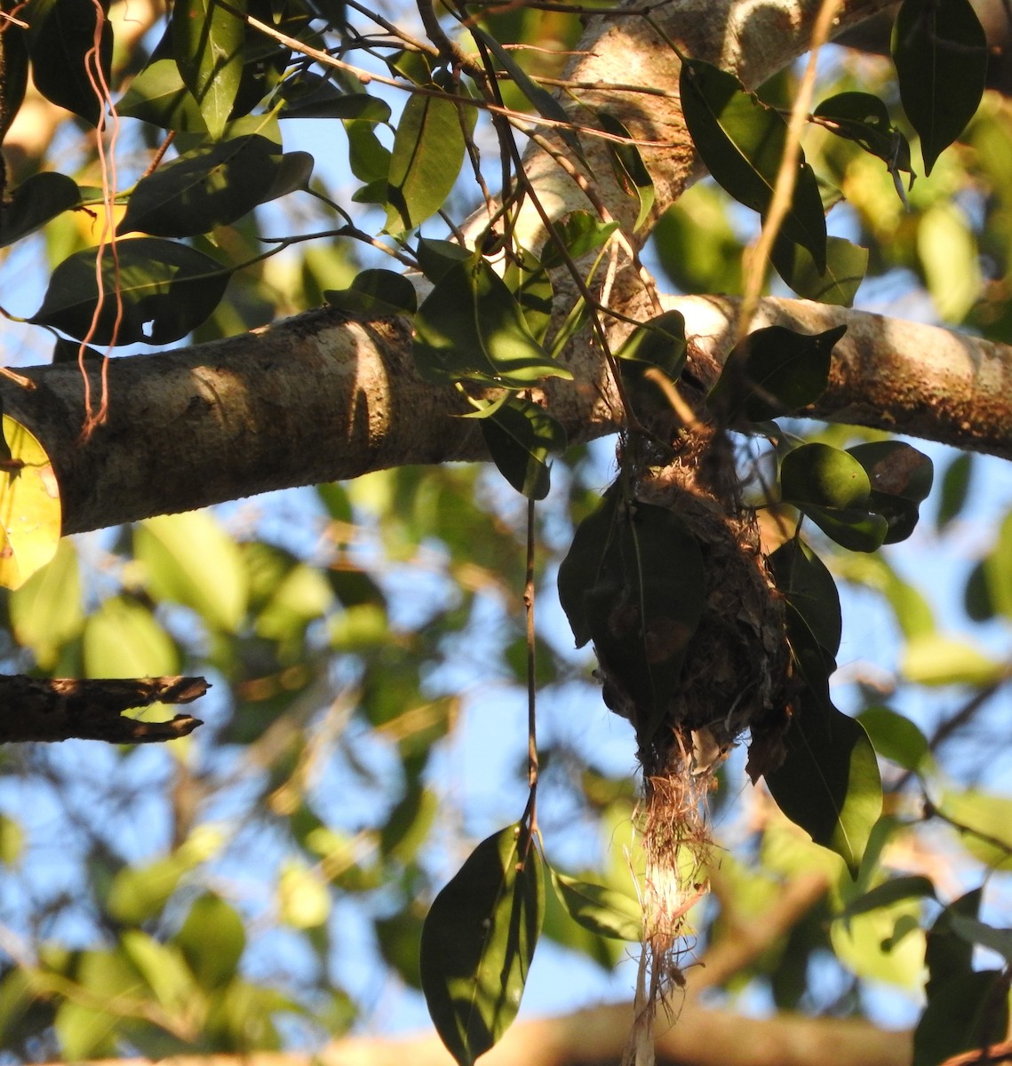
<path fill-rule="evenodd" d="M 3 416 L 0 462 L 0 586 L 18 588 L 55 554 L 62 508 L 60 486 L 42 445 Z"/>

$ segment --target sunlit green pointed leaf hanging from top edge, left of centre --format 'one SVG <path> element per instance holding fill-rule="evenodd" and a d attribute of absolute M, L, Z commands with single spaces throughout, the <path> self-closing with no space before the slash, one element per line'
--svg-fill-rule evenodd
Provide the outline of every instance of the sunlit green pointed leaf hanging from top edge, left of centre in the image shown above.
<path fill-rule="evenodd" d="M 230 6 L 245 13 L 246 0 Z M 179 76 L 197 101 L 211 136 L 225 132 L 245 63 L 246 25 L 218 0 L 176 0 L 172 44 Z"/>

